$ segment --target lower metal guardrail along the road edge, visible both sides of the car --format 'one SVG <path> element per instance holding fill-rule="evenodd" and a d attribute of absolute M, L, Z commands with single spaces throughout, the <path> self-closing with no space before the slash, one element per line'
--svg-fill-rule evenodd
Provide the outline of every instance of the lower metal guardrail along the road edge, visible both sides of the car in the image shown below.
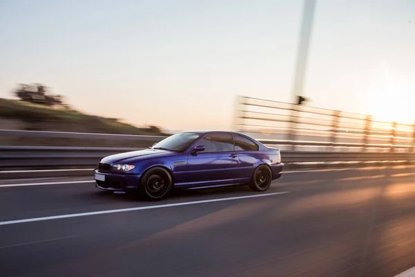
<path fill-rule="evenodd" d="M 103 157 L 133 150 L 139 150 L 139 148 L 1 146 L 0 169 L 94 167 Z M 415 153 L 282 151 L 282 161 L 284 163 L 415 161 Z"/>

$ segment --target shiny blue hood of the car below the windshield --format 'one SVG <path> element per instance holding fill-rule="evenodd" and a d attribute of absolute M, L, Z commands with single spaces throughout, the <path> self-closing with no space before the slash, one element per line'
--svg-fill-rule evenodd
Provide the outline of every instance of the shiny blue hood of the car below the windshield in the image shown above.
<path fill-rule="evenodd" d="M 167 150 L 158 150 L 158 149 L 145 149 L 131 152 L 124 152 L 120 154 L 113 154 L 107 156 L 101 160 L 102 163 L 122 163 L 122 162 L 134 162 L 147 158 L 156 158 L 156 157 L 167 157 L 176 154 L 173 151 Z"/>

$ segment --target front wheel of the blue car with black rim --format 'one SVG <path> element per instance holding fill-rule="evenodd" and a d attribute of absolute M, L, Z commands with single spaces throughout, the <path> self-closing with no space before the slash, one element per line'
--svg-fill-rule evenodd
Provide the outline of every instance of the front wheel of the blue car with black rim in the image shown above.
<path fill-rule="evenodd" d="M 164 168 L 150 168 L 140 181 L 140 192 L 151 201 L 165 199 L 173 188 L 172 175 Z"/>

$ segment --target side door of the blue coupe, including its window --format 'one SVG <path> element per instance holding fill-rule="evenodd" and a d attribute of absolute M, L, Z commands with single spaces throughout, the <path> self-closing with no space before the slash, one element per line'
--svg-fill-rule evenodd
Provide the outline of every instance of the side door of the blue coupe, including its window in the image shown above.
<path fill-rule="evenodd" d="M 190 186 L 233 184 L 235 172 L 239 168 L 239 159 L 234 153 L 232 134 L 208 134 L 197 145 L 205 146 L 205 150 L 189 154 L 187 184 Z"/>

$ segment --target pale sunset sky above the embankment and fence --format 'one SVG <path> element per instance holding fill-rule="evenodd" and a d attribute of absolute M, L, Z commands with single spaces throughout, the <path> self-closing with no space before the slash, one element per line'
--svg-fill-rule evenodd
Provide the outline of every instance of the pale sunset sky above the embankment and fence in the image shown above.
<path fill-rule="evenodd" d="M 228 129 L 237 95 L 293 101 L 302 6 L 0 0 L 0 97 L 39 82 L 88 114 Z M 414 49 L 415 1 L 317 0 L 308 105 L 414 121 Z"/>

